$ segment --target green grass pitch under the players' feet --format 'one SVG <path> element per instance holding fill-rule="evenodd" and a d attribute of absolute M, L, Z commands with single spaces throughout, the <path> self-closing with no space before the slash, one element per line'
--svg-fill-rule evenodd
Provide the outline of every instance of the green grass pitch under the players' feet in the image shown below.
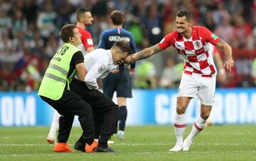
<path fill-rule="evenodd" d="M 125 140 L 113 135 L 118 153 L 56 153 L 46 143 L 48 127 L 0 128 L 0 160 L 256 160 L 256 125 L 205 128 L 188 152 L 169 152 L 175 143 L 174 127 L 128 126 Z M 186 135 L 191 126 L 186 129 Z M 81 130 L 73 128 L 68 143 L 73 148 Z"/>

